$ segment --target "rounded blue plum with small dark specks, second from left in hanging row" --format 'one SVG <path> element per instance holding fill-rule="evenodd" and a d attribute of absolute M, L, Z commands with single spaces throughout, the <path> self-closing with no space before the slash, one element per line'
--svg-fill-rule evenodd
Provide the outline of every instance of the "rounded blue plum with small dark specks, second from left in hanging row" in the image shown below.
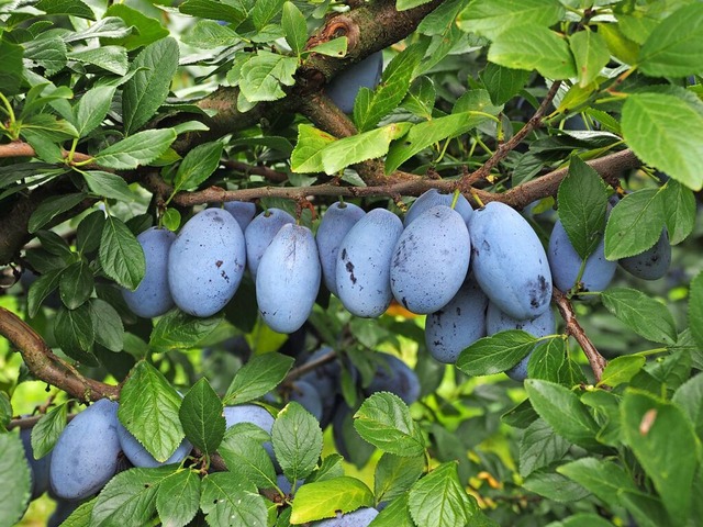
<path fill-rule="evenodd" d="M 239 224 L 222 209 L 205 209 L 183 225 L 168 253 L 174 301 L 190 315 L 214 315 L 234 296 L 245 266 Z"/>

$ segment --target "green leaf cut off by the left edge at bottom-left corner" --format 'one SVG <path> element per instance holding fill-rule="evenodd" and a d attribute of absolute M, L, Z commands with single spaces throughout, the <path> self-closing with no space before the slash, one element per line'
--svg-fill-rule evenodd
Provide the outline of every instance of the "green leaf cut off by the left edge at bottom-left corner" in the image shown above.
<path fill-rule="evenodd" d="M 16 525 L 30 503 L 30 467 L 16 434 L 0 434 L 0 525 Z"/>

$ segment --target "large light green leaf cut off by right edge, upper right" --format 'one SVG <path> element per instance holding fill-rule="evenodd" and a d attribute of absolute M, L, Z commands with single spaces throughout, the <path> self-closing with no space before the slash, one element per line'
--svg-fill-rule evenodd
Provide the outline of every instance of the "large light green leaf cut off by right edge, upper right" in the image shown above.
<path fill-rule="evenodd" d="M 666 93 L 636 93 L 623 105 L 623 137 L 639 159 L 692 190 L 703 188 L 703 115 Z"/>

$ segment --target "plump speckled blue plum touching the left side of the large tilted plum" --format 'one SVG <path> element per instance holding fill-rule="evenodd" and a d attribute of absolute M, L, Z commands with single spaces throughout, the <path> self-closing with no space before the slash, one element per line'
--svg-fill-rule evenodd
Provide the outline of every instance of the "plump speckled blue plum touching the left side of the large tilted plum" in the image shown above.
<path fill-rule="evenodd" d="M 391 291 L 412 313 L 434 313 L 457 294 L 466 279 L 471 242 L 458 212 L 436 205 L 398 238 L 391 260 Z"/>

